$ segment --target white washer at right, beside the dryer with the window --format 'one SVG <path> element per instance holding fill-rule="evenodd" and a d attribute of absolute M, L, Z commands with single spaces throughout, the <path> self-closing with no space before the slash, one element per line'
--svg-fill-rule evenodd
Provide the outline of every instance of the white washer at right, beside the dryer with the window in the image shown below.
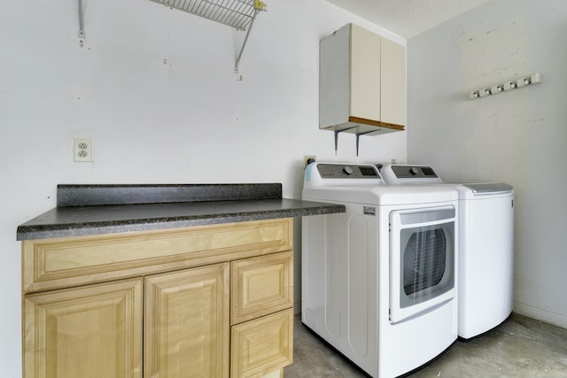
<path fill-rule="evenodd" d="M 388 184 L 439 184 L 431 166 L 389 165 Z M 450 183 L 459 193 L 459 336 L 481 336 L 513 307 L 514 189 L 503 182 Z"/>

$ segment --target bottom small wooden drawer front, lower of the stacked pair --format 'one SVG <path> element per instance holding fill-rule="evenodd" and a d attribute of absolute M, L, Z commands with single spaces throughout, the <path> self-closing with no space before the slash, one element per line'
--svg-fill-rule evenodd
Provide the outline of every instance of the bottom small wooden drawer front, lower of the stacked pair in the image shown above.
<path fill-rule="evenodd" d="M 261 377 L 293 362 L 293 310 L 232 327 L 231 377 Z"/>

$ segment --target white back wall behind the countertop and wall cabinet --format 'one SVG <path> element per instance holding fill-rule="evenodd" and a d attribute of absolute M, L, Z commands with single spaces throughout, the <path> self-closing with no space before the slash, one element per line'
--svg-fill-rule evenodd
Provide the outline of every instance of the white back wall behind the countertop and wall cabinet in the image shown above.
<path fill-rule="evenodd" d="M 405 132 L 362 137 L 356 158 L 353 135 L 335 156 L 318 129 L 319 40 L 353 21 L 405 41 L 322 0 L 266 3 L 242 81 L 243 32 L 149 0 L 84 0 L 84 47 L 76 0 L 0 4 L 2 376 L 21 376 L 16 228 L 56 205 L 58 183 L 282 182 L 299 198 L 306 154 L 405 160 Z M 94 163 L 73 162 L 74 137 Z"/>

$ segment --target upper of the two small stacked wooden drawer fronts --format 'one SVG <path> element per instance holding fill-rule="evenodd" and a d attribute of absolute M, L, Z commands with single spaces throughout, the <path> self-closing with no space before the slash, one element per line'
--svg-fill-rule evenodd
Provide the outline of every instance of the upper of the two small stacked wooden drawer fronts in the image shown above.
<path fill-rule="evenodd" d="M 293 252 L 231 262 L 231 324 L 293 306 Z"/>

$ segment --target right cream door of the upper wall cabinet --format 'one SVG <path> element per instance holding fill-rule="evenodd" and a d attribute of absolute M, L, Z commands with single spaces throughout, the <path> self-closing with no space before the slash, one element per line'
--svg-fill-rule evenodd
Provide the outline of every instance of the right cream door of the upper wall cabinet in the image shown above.
<path fill-rule="evenodd" d="M 382 39 L 381 120 L 406 125 L 406 48 Z"/>

